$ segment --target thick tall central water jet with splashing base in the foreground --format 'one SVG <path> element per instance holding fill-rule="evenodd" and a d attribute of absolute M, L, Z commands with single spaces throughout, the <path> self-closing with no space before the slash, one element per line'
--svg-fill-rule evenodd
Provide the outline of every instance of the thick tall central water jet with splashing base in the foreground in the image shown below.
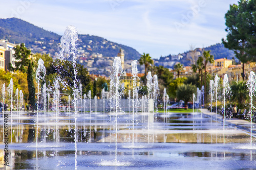
<path fill-rule="evenodd" d="M 116 126 L 116 157 L 115 157 L 115 162 L 117 164 L 117 113 L 120 110 L 119 107 L 119 98 L 120 98 L 120 94 L 118 91 L 118 88 L 120 87 L 120 76 L 122 74 L 122 65 L 121 65 L 121 59 L 120 57 L 115 57 L 114 62 L 113 62 L 113 66 L 110 72 L 110 77 L 111 80 L 113 80 L 113 92 L 111 94 L 111 98 L 115 100 L 115 106 L 114 106 L 114 110 L 115 110 L 115 126 Z"/>

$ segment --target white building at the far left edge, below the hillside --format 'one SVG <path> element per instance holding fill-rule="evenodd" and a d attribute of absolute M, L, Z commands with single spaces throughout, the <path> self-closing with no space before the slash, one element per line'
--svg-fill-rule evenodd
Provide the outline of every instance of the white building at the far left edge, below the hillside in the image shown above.
<path fill-rule="evenodd" d="M 8 40 L 0 40 L 0 46 L 6 49 L 5 51 L 5 70 L 10 70 L 9 63 L 11 63 L 12 67 L 15 67 L 15 58 L 13 57 L 15 51 L 14 47 L 19 44 L 14 44 L 8 42 Z"/>

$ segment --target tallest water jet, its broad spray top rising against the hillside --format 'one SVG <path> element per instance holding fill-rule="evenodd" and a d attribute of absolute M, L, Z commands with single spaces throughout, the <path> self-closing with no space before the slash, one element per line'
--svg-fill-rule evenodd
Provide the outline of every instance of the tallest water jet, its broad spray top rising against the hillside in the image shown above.
<path fill-rule="evenodd" d="M 75 109 L 75 169 L 77 169 L 77 70 L 76 70 L 76 59 L 77 59 L 77 44 L 76 41 L 78 40 L 78 33 L 77 30 L 74 26 L 68 26 L 63 34 L 63 36 L 60 39 L 60 44 L 61 44 L 61 50 L 60 50 L 60 56 L 59 58 L 64 59 L 67 58 L 68 60 L 72 61 L 72 65 L 74 68 L 74 79 L 73 83 L 74 86 L 72 87 L 73 90 L 73 104 L 74 104 L 74 109 Z"/>

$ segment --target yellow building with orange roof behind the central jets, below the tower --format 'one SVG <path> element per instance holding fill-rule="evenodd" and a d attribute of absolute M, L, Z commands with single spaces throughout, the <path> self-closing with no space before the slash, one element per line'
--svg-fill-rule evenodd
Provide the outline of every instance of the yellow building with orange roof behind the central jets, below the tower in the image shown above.
<path fill-rule="evenodd" d="M 138 73 L 138 77 L 136 78 L 136 86 L 139 87 L 140 86 L 140 78 L 143 77 L 145 74 L 143 73 Z M 132 89 L 133 88 L 133 76 L 132 73 L 124 73 L 122 74 L 122 76 L 120 77 L 120 82 L 121 84 L 124 84 L 124 87 L 127 89 Z"/>

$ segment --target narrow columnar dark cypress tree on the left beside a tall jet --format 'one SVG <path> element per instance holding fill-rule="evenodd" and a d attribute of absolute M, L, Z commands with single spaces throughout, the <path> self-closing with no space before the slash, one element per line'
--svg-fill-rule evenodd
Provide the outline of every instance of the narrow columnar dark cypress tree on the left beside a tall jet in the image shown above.
<path fill-rule="evenodd" d="M 27 81 L 28 81 L 28 89 L 29 89 L 29 104 L 31 105 L 32 112 L 34 112 L 35 109 L 35 86 L 34 86 L 34 70 L 33 70 L 33 65 L 32 62 L 29 62 L 28 65 L 28 76 L 27 76 Z"/>

